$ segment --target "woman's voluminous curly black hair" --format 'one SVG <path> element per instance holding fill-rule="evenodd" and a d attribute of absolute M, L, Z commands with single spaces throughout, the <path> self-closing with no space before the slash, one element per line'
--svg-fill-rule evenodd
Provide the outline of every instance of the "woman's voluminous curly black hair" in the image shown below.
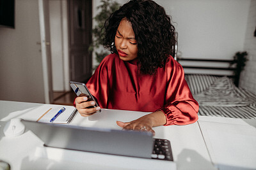
<path fill-rule="evenodd" d="M 175 27 L 162 6 L 151 0 L 131 0 L 110 15 L 104 24 L 104 47 L 117 53 L 115 35 L 122 18 L 132 24 L 138 46 L 141 74 L 154 74 L 163 67 L 175 45 Z"/>

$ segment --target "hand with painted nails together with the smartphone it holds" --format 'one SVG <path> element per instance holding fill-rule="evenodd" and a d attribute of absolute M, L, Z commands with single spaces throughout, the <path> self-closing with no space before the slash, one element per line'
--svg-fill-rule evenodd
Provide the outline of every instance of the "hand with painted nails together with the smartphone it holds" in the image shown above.
<path fill-rule="evenodd" d="M 81 116 L 88 117 L 97 111 L 101 111 L 99 104 L 84 83 L 70 81 L 70 87 L 78 96 L 76 98 L 76 108 Z"/>

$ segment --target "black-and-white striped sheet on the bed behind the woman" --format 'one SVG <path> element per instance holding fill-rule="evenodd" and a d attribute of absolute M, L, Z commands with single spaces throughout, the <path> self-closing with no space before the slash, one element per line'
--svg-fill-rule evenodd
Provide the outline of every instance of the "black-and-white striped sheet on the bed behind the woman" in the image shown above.
<path fill-rule="evenodd" d="M 227 76 L 186 74 L 185 79 L 198 101 L 198 115 L 256 119 L 256 95 Z"/>

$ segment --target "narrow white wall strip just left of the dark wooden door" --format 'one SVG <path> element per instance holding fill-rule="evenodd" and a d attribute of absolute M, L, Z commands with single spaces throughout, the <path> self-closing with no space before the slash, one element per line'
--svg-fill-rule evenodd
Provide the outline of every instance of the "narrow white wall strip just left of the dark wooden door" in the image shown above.
<path fill-rule="evenodd" d="M 69 90 L 67 0 L 49 1 L 52 90 Z"/>

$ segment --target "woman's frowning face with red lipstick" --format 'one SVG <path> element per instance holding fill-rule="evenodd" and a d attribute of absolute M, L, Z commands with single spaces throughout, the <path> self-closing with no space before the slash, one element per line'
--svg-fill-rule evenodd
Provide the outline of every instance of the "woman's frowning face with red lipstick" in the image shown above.
<path fill-rule="evenodd" d="M 116 31 L 115 46 L 121 60 L 137 58 L 138 47 L 132 24 L 125 18 L 121 20 Z"/>

